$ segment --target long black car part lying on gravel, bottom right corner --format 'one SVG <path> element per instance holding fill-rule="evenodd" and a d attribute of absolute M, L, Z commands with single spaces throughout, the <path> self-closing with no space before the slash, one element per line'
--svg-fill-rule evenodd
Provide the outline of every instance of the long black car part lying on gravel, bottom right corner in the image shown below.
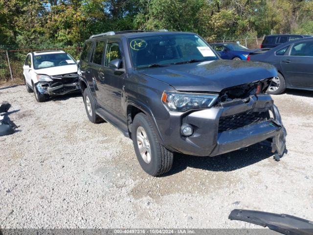
<path fill-rule="evenodd" d="M 241 220 L 268 227 L 285 235 L 313 235 L 312 221 L 289 214 L 235 209 L 230 212 L 228 219 Z"/>

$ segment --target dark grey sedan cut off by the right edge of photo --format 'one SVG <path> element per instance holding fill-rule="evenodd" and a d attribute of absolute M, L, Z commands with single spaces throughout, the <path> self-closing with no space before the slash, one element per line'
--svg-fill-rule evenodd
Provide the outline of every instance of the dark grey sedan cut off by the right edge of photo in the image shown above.
<path fill-rule="evenodd" d="M 255 51 L 247 60 L 261 61 L 276 67 L 269 94 L 283 93 L 286 88 L 313 91 L 313 37 L 299 39 L 272 48 Z"/>

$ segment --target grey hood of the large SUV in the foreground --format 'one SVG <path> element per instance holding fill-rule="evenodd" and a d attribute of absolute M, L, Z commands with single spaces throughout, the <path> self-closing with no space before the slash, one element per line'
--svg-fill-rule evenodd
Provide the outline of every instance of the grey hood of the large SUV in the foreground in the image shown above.
<path fill-rule="evenodd" d="M 221 92 L 225 88 L 277 76 L 272 65 L 252 61 L 214 60 L 138 70 L 177 91 Z"/>

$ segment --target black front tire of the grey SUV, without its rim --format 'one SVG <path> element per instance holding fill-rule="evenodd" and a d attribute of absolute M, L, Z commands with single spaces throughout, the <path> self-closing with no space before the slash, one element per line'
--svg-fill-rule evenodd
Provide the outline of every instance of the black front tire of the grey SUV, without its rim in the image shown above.
<path fill-rule="evenodd" d="M 142 127 L 148 137 L 151 149 L 150 163 L 146 163 L 140 155 L 136 135 L 138 127 Z M 161 175 L 168 172 L 172 168 L 173 152 L 166 149 L 159 143 L 156 136 L 156 131 L 154 130 L 151 121 L 143 113 L 139 113 L 134 117 L 132 125 L 132 139 L 138 162 L 142 169 L 149 175 L 152 176 Z"/>

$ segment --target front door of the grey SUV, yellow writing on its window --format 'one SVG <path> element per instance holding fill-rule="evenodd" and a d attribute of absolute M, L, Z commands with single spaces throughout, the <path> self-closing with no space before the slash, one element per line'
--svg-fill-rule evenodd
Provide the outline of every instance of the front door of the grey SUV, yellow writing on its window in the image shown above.
<path fill-rule="evenodd" d="M 124 82 L 124 72 L 116 71 L 109 68 L 109 63 L 112 60 L 122 60 L 124 66 L 124 58 L 122 56 L 122 42 L 120 39 L 109 39 L 106 45 L 105 59 L 104 59 L 104 81 L 106 106 L 110 107 L 115 115 L 124 117 L 122 109 L 122 89 Z"/>

